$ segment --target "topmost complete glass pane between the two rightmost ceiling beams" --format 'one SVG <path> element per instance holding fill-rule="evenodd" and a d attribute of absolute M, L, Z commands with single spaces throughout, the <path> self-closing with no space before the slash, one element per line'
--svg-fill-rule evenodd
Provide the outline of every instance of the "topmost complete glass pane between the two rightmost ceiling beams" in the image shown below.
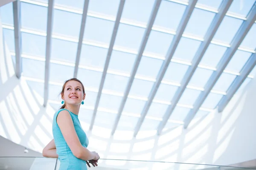
<path fill-rule="evenodd" d="M 226 70 L 240 72 L 241 69 L 244 67 L 244 64 L 250 58 L 251 53 L 237 50 L 236 53 L 233 55 L 232 59 L 228 63 Z"/>

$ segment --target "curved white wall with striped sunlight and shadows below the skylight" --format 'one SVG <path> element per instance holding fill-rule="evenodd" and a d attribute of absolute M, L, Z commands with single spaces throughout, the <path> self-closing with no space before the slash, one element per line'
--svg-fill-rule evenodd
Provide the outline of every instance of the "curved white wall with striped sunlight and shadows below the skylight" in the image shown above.
<path fill-rule="evenodd" d="M 0 26 L 1 28 L 1 26 Z M 55 110 L 42 107 L 43 98 L 29 88 L 26 80 L 14 74 L 11 55 L 4 45 L 0 29 L 0 135 L 17 144 L 41 152 L 52 139 L 52 116 Z M 5 50 L 4 50 L 4 47 Z M 229 165 L 256 159 L 256 79 L 237 94 L 223 113 L 210 113 L 197 119 L 188 129 L 177 127 L 155 136 L 154 132 L 138 133 L 94 127 L 89 136 L 89 149 L 104 159 L 172 161 L 197 164 Z M 88 125 L 83 124 L 84 127 Z M 143 169 L 178 169 L 168 163 L 100 161 L 106 167 Z M 182 165 L 190 166 L 190 165 Z M 190 166 L 199 168 L 199 166 Z"/>

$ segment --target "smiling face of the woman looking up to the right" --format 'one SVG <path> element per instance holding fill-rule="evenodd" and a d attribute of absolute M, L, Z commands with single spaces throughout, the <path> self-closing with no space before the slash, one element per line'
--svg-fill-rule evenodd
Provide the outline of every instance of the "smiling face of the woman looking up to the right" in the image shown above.
<path fill-rule="evenodd" d="M 84 100 L 83 88 L 80 82 L 71 80 L 66 83 L 62 99 L 66 104 L 79 105 Z"/>

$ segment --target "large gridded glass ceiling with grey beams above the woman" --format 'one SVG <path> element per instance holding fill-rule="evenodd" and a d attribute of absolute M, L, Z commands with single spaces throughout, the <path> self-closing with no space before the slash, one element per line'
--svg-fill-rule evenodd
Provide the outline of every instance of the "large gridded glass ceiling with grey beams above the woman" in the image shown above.
<path fill-rule="evenodd" d="M 45 102 L 58 109 L 63 82 L 77 77 L 87 94 L 84 127 L 136 136 L 186 128 L 222 111 L 250 82 L 255 6 L 255 0 L 20 0 L 0 7 L 0 17 L 14 63 L 22 58 L 21 76 Z"/>

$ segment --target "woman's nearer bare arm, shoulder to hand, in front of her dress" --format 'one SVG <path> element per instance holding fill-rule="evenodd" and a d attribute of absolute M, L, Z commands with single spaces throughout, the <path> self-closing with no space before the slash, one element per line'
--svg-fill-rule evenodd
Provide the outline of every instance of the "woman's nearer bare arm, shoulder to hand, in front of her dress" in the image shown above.
<path fill-rule="evenodd" d="M 61 130 L 61 133 L 70 147 L 73 155 L 84 161 L 97 160 L 99 155 L 95 152 L 90 152 L 86 147 L 83 147 L 76 134 L 75 127 L 73 125 L 72 118 L 68 111 L 61 111 L 57 116 L 57 124 Z"/>

